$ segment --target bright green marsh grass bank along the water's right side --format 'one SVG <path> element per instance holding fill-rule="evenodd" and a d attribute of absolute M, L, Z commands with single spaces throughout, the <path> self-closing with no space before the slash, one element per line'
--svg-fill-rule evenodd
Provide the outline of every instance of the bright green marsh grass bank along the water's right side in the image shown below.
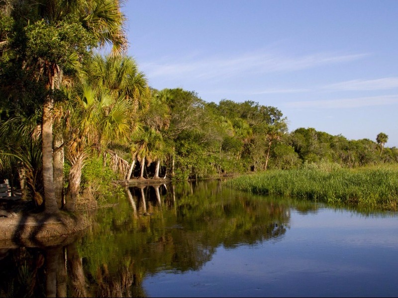
<path fill-rule="evenodd" d="M 313 166 L 271 170 L 233 178 L 225 184 L 257 194 L 398 210 L 397 166 L 358 169 Z"/>

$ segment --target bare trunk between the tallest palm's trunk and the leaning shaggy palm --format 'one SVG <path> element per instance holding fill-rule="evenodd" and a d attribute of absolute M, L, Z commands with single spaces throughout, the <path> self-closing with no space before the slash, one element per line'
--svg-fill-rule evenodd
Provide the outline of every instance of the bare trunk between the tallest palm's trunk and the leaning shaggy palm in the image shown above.
<path fill-rule="evenodd" d="M 60 148 L 62 143 L 62 137 L 54 137 L 54 192 L 58 209 L 64 206 L 64 148 Z"/>

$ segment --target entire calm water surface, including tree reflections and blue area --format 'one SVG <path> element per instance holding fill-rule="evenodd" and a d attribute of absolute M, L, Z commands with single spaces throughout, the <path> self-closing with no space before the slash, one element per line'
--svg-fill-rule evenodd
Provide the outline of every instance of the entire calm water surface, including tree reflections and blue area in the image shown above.
<path fill-rule="evenodd" d="M 0 296 L 397 297 L 397 213 L 219 181 L 126 189 L 70 243 L 0 250 Z"/>

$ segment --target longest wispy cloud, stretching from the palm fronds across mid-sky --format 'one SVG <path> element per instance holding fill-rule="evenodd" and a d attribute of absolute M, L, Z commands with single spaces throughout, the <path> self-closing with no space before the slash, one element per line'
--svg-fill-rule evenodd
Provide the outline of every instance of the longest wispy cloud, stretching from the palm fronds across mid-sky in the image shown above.
<path fill-rule="evenodd" d="M 186 78 L 214 79 L 245 74 L 293 72 L 329 64 L 345 63 L 361 59 L 367 54 L 338 55 L 318 53 L 300 57 L 289 57 L 276 53 L 251 53 L 235 57 L 213 57 L 199 59 L 174 59 L 167 62 L 143 63 L 141 67 L 148 77 L 165 79 Z"/>

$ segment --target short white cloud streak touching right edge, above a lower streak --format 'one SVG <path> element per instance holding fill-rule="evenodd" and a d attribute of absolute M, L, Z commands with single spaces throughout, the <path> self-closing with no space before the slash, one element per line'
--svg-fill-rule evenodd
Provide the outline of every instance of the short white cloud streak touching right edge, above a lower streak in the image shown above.
<path fill-rule="evenodd" d="M 378 79 L 353 79 L 349 81 L 329 84 L 322 87 L 322 89 L 336 90 L 336 91 L 360 91 L 360 90 L 386 90 L 398 88 L 398 77 L 384 77 Z"/>

